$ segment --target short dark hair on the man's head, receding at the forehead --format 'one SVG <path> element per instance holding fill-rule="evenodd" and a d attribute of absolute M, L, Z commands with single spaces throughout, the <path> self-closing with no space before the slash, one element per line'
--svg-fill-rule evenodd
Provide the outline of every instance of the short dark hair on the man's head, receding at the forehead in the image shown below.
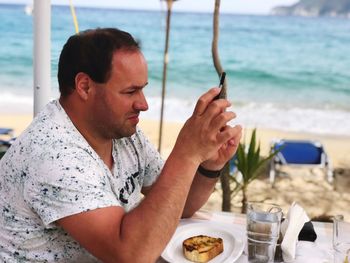
<path fill-rule="evenodd" d="M 113 53 L 116 50 L 140 50 L 138 42 L 116 28 L 97 28 L 71 36 L 63 46 L 58 62 L 61 96 L 75 89 L 75 76 L 84 72 L 97 83 L 108 81 Z"/>

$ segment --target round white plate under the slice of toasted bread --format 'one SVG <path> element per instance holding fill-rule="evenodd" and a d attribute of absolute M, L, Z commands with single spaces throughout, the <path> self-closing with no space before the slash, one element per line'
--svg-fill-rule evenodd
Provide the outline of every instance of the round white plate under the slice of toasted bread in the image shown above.
<path fill-rule="evenodd" d="M 190 223 L 177 227 L 175 234 L 162 253 L 162 258 L 171 263 L 191 263 L 182 252 L 182 242 L 192 236 L 207 235 L 220 237 L 224 241 L 224 251 L 210 260 L 210 263 L 235 262 L 243 252 L 243 232 L 233 225 L 224 225 L 213 222 Z"/>

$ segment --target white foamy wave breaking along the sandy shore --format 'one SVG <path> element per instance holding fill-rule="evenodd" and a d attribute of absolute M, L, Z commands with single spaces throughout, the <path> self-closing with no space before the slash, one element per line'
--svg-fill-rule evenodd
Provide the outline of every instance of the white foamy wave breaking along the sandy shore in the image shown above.
<path fill-rule="evenodd" d="M 167 98 L 164 120 L 185 122 L 195 108 L 195 100 Z M 4 93 L 0 96 L 0 114 L 32 114 L 33 98 Z M 145 119 L 159 120 L 161 100 L 148 98 L 149 110 L 141 113 Z M 279 107 L 273 103 L 233 102 L 237 118 L 231 125 L 277 130 L 350 136 L 350 112 L 307 107 Z"/>

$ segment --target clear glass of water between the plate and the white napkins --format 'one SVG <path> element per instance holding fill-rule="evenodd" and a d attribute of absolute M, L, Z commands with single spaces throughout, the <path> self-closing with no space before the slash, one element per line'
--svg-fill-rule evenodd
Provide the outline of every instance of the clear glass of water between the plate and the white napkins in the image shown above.
<path fill-rule="evenodd" d="M 248 261 L 274 262 L 282 210 L 275 204 L 250 202 L 247 206 Z"/>

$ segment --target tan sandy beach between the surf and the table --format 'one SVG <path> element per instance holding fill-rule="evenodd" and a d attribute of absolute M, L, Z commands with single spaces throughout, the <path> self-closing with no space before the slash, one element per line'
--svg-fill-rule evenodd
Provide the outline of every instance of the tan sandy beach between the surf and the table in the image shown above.
<path fill-rule="evenodd" d="M 31 115 L 0 114 L 0 126 L 15 130 L 18 136 L 32 120 Z M 158 145 L 158 121 L 142 120 L 140 126 L 149 139 Z M 163 130 L 162 156 L 166 158 L 175 143 L 181 123 L 166 122 Z M 246 129 L 249 138 L 251 130 Z M 244 137 L 244 136 L 243 136 Z M 307 139 L 320 141 L 327 151 L 335 172 L 335 181 L 329 184 L 319 169 L 288 169 L 276 179 L 272 188 L 266 175 L 260 176 L 248 187 L 250 201 L 269 201 L 279 204 L 286 212 L 293 201 L 301 204 L 311 218 L 322 215 L 343 214 L 350 220 L 350 137 L 293 133 L 270 129 L 257 129 L 262 154 L 266 155 L 272 139 Z M 241 194 L 232 199 L 232 210 L 240 211 Z M 221 189 L 217 185 L 204 209 L 221 210 Z"/>

